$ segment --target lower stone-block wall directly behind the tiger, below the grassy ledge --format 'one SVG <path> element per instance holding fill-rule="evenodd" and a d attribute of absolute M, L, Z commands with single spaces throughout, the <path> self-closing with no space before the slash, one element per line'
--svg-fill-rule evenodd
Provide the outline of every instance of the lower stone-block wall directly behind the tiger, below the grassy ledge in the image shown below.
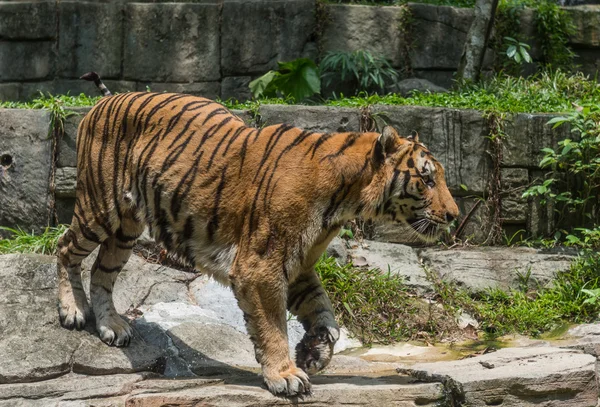
<path fill-rule="evenodd" d="M 0 225 L 40 229 L 52 220 L 53 199 L 60 223 L 70 223 L 76 185 L 77 125 L 89 108 L 73 109 L 76 115 L 65 123 L 58 145 L 55 192 L 50 196 L 52 140 L 48 138 L 50 115 L 41 110 L 0 109 Z M 258 112 L 236 112 L 249 125 L 288 123 L 312 131 L 360 131 L 359 109 L 327 106 L 262 105 Z M 500 174 L 495 174 L 490 157 L 487 119 L 476 110 L 421 106 L 373 106 L 372 117 L 394 125 L 401 134 L 419 132 L 446 169 L 448 186 L 463 216 L 473 211 L 462 237 L 483 241 L 490 225 L 485 202 L 488 183 L 502 179 L 502 225 L 507 233 L 526 230 L 540 235 L 552 229 L 552 208 L 521 198 L 523 189 L 542 172 L 537 163 L 540 149 L 554 145 L 569 129 L 552 129 L 547 114 L 518 114 L 508 118 Z M 480 202 L 480 203 L 478 203 Z M 375 238 L 403 242 L 398 228 L 378 227 Z"/>

